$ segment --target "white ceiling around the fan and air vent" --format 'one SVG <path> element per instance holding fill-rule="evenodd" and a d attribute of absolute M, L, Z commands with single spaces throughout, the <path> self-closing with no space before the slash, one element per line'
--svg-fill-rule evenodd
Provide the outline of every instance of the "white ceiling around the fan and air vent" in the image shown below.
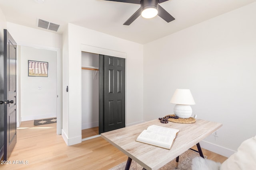
<path fill-rule="evenodd" d="M 36 29 L 42 29 L 36 25 L 38 19 L 60 24 L 59 34 L 64 25 L 73 23 L 145 44 L 252 2 L 256 0 L 168 0 L 160 5 L 176 20 L 167 23 L 159 16 L 140 16 L 129 26 L 122 24 L 140 8 L 139 4 L 107 0 L 44 0 L 43 4 L 34 0 L 0 0 L 0 8 L 6 21 Z"/>

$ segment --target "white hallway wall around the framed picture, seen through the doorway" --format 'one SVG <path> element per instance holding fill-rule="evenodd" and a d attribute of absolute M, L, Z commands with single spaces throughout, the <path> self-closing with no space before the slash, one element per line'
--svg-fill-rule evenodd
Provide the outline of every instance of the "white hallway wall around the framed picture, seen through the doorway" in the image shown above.
<path fill-rule="evenodd" d="M 21 120 L 56 117 L 56 51 L 20 47 Z M 28 76 L 28 60 L 48 62 L 48 77 Z"/>

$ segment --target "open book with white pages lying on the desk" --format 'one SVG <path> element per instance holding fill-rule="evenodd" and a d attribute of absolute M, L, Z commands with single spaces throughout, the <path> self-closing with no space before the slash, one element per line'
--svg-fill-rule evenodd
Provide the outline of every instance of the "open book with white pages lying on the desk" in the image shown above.
<path fill-rule="evenodd" d="M 172 143 L 178 132 L 178 129 L 151 125 L 140 133 L 136 141 L 164 149 L 171 149 Z"/>

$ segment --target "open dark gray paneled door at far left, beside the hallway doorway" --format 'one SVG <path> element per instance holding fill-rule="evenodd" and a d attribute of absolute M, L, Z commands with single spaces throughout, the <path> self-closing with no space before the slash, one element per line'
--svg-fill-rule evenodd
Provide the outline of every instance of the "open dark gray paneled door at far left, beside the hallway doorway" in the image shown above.
<path fill-rule="evenodd" d="M 16 42 L 4 29 L 4 160 L 8 160 L 17 141 Z"/>

